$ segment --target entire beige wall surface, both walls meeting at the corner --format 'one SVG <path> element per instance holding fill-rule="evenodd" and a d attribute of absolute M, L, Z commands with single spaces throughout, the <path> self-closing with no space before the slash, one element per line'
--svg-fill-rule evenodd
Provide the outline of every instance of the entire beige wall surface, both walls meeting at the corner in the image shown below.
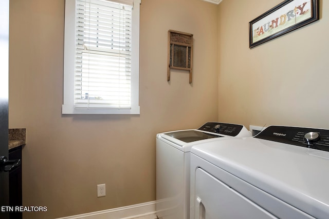
<path fill-rule="evenodd" d="M 320 0 L 319 21 L 248 47 L 248 22 L 280 2 L 142 0 L 141 114 L 62 115 L 64 0 L 11 0 L 9 126 L 27 128 L 23 205 L 48 207 L 24 218 L 155 200 L 161 131 L 217 120 L 329 128 L 329 3 Z M 169 29 L 194 34 L 191 85 L 185 71 L 166 80 Z"/>

